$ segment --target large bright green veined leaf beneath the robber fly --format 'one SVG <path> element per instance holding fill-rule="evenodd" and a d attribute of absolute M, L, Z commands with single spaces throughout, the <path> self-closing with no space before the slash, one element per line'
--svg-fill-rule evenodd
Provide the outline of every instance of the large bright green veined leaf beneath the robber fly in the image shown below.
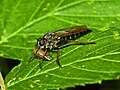
<path fill-rule="evenodd" d="M 119 0 L 1 0 L 0 56 L 20 60 L 5 78 L 8 89 L 57 89 L 100 83 L 120 75 Z M 28 64 L 36 38 L 59 29 L 87 25 L 92 33 L 78 39 L 94 45 L 61 50 L 54 59 Z M 118 27 L 118 28 L 113 28 Z"/>

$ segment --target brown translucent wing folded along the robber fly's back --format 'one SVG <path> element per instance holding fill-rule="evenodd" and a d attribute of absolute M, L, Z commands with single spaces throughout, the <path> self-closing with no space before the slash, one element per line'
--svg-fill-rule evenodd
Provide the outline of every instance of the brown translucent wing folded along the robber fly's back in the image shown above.
<path fill-rule="evenodd" d="M 67 38 L 67 40 L 72 40 L 72 39 L 74 40 L 83 35 L 88 34 L 89 32 L 91 32 L 91 30 L 89 30 L 87 26 L 75 26 L 68 29 L 61 29 L 54 33 L 57 37 L 60 38 L 65 37 Z"/>

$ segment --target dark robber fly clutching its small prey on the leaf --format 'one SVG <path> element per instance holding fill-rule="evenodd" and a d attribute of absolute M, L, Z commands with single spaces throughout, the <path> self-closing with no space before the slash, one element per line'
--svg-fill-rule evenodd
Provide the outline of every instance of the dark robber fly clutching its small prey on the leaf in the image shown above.
<path fill-rule="evenodd" d="M 64 48 L 67 43 L 74 42 L 77 45 L 95 44 L 95 42 L 79 42 L 76 39 L 92 32 L 87 26 L 76 26 L 68 29 L 61 29 L 55 32 L 46 33 L 42 38 L 37 39 L 36 47 L 32 58 L 32 61 L 36 56 L 40 58 L 40 66 L 43 60 L 50 61 L 52 57 L 48 54 L 49 51 L 57 50 L 56 63 L 59 67 L 60 49 Z"/>

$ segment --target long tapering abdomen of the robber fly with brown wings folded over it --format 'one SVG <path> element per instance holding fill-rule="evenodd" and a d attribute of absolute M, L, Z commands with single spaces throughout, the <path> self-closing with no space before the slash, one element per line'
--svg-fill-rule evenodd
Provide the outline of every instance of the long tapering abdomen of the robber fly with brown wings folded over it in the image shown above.
<path fill-rule="evenodd" d="M 65 31 L 58 31 L 56 32 L 58 38 L 57 46 L 64 45 L 70 40 L 76 40 L 88 33 L 90 33 L 92 30 L 89 30 L 87 26 L 77 26 L 72 27 L 70 29 L 67 29 Z"/>

